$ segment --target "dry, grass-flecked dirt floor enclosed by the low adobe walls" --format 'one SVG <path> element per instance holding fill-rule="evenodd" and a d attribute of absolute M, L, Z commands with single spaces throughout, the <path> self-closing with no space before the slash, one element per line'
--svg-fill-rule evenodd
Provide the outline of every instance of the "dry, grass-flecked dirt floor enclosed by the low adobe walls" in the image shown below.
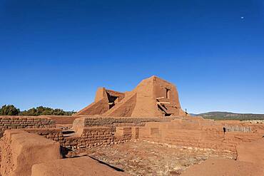
<path fill-rule="evenodd" d="M 69 152 L 67 157 L 83 155 L 93 157 L 131 175 L 181 175 L 189 166 L 197 165 L 208 157 L 233 158 L 230 152 L 193 150 L 146 141 L 78 149 Z"/>

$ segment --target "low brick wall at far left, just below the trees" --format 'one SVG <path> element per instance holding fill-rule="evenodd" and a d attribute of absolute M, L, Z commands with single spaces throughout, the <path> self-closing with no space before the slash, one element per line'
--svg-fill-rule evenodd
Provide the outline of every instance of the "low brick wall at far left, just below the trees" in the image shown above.
<path fill-rule="evenodd" d="M 0 116 L 0 138 L 5 130 L 21 128 L 55 128 L 55 121 L 36 116 Z"/>

